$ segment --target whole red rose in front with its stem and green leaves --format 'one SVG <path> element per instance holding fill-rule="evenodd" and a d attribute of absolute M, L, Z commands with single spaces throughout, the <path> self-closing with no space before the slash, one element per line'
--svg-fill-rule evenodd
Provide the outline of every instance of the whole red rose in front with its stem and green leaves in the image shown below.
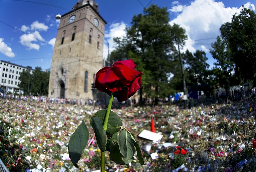
<path fill-rule="evenodd" d="M 123 165 L 133 161 L 136 149 L 139 163 L 145 164 L 134 135 L 122 126 L 121 119 L 110 110 L 114 97 L 118 101 L 126 101 L 141 88 L 142 73 L 134 70 L 135 67 L 131 59 L 117 61 L 112 67 L 104 67 L 96 74 L 95 88 L 110 95 L 108 108 L 101 109 L 89 117 L 101 151 L 101 172 L 105 171 L 106 151 L 110 152 L 110 160 Z M 71 136 L 68 145 L 69 158 L 77 168 L 77 162 L 89 140 L 89 131 L 84 120 Z M 123 129 L 120 131 L 121 128 Z"/>

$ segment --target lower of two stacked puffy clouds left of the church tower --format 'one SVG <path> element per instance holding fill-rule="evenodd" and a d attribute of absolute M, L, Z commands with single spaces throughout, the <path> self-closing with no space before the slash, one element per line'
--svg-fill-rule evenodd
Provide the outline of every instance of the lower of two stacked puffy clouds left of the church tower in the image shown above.
<path fill-rule="evenodd" d="M 32 41 L 44 41 L 44 38 L 42 38 L 38 31 L 35 31 L 30 34 L 23 34 L 20 36 L 20 43 L 22 45 L 27 46 L 28 49 L 39 50 L 40 46 L 36 43 L 32 43 Z"/>

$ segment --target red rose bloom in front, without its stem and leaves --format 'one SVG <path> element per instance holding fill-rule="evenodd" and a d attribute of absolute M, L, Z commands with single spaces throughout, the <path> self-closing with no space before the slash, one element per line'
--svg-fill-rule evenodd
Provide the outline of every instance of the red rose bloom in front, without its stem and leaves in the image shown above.
<path fill-rule="evenodd" d="M 134 70 L 133 60 L 117 61 L 112 67 L 104 67 L 96 74 L 95 87 L 98 90 L 126 101 L 133 96 L 141 86 L 142 73 Z"/>

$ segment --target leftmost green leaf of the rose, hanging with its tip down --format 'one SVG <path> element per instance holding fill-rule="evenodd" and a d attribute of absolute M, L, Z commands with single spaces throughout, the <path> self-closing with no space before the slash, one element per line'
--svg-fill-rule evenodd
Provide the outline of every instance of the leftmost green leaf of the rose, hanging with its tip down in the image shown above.
<path fill-rule="evenodd" d="M 88 140 L 89 131 L 83 120 L 82 123 L 76 128 L 75 132 L 72 134 L 68 142 L 69 158 L 76 168 L 79 168 L 76 163 L 80 160 L 81 155 L 84 152 L 84 148 L 88 143 Z"/>

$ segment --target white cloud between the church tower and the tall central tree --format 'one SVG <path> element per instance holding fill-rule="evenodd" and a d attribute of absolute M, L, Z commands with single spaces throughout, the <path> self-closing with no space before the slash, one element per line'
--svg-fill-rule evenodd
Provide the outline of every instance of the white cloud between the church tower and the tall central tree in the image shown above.
<path fill-rule="evenodd" d="M 126 35 L 124 29 L 127 25 L 124 22 L 113 23 L 109 27 L 109 31 L 105 32 L 105 43 L 103 46 L 103 58 L 107 59 L 108 57 L 108 43 L 109 43 L 109 52 L 114 50 L 114 41 L 115 37 L 123 37 Z M 108 42 L 108 43 L 107 43 Z"/>

